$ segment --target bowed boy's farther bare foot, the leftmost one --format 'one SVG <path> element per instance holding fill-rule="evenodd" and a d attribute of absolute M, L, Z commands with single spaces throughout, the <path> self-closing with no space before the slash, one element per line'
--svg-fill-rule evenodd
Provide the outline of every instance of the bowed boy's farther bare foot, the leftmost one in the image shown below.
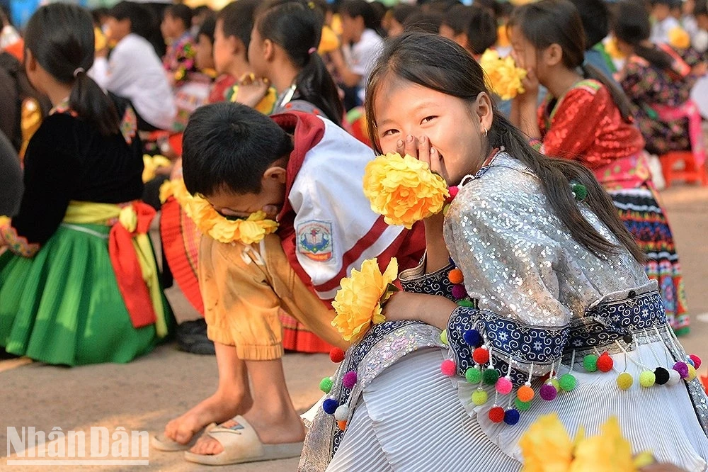
<path fill-rule="evenodd" d="M 194 408 L 167 423 L 165 436 L 179 444 L 188 444 L 192 437 L 210 423 L 221 423 L 251 408 L 253 400 L 243 395 L 227 397 L 215 393 Z"/>

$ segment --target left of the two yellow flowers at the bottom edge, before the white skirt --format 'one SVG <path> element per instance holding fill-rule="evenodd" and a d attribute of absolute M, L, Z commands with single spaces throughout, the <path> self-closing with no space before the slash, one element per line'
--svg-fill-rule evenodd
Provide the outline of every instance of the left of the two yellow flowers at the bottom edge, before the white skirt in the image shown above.
<path fill-rule="evenodd" d="M 555 413 L 539 417 L 519 440 L 522 472 L 568 472 L 573 442 Z M 599 470 L 599 469 L 598 469 Z"/>

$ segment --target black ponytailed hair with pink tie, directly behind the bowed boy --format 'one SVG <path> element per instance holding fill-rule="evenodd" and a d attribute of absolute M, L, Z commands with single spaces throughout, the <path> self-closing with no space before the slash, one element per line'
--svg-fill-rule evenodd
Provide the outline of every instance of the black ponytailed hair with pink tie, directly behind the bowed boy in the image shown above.
<path fill-rule="evenodd" d="M 324 18 L 298 0 L 275 0 L 256 13 L 261 39 L 282 47 L 300 72 L 295 79 L 297 96 L 319 108 L 337 125 L 342 124 L 344 106 L 332 76 L 317 53 Z"/>

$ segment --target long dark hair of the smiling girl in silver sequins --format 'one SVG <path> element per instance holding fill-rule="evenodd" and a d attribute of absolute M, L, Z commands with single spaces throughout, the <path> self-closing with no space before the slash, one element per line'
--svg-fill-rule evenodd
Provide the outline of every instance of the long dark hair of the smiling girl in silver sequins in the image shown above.
<path fill-rule="evenodd" d="M 369 77 L 365 101 L 368 131 L 374 149 L 379 153 L 382 150 L 376 138 L 374 101 L 377 91 L 392 75 L 427 89 L 455 96 L 470 104 L 476 101 L 479 94 L 489 94 L 484 72 L 479 64 L 467 51 L 452 41 L 426 33 L 406 33 L 389 40 Z M 644 260 L 641 249 L 619 220 L 610 196 L 590 170 L 570 160 L 553 159 L 540 154 L 530 146 L 528 137 L 496 108 L 487 139 L 489 147 L 505 147 L 512 157 L 532 169 L 541 182 L 543 193 L 548 198 L 554 214 L 566 225 L 573 239 L 579 244 L 598 256 L 616 254 L 618 249 L 583 217 L 570 191 L 571 181 L 586 186 L 588 196 L 585 202 L 590 209 L 605 223 L 620 244 L 632 253 L 634 259 Z"/>

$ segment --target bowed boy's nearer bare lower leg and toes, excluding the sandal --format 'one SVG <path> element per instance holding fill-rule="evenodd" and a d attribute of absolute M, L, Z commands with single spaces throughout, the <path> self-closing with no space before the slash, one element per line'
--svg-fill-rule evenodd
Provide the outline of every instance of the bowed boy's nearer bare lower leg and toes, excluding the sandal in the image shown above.
<path fill-rule="evenodd" d="M 299 442 L 304 425 L 292 406 L 285 385 L 282 361 L 246 361 L 253 388 L 253 407 L 243 416 L 264 444 Z M 227 423 L 228 424 L 228 423 Z M 195 454 L 219 454 L 224 448 L 212 437 L 201 437 L 190 450 Z"/>

